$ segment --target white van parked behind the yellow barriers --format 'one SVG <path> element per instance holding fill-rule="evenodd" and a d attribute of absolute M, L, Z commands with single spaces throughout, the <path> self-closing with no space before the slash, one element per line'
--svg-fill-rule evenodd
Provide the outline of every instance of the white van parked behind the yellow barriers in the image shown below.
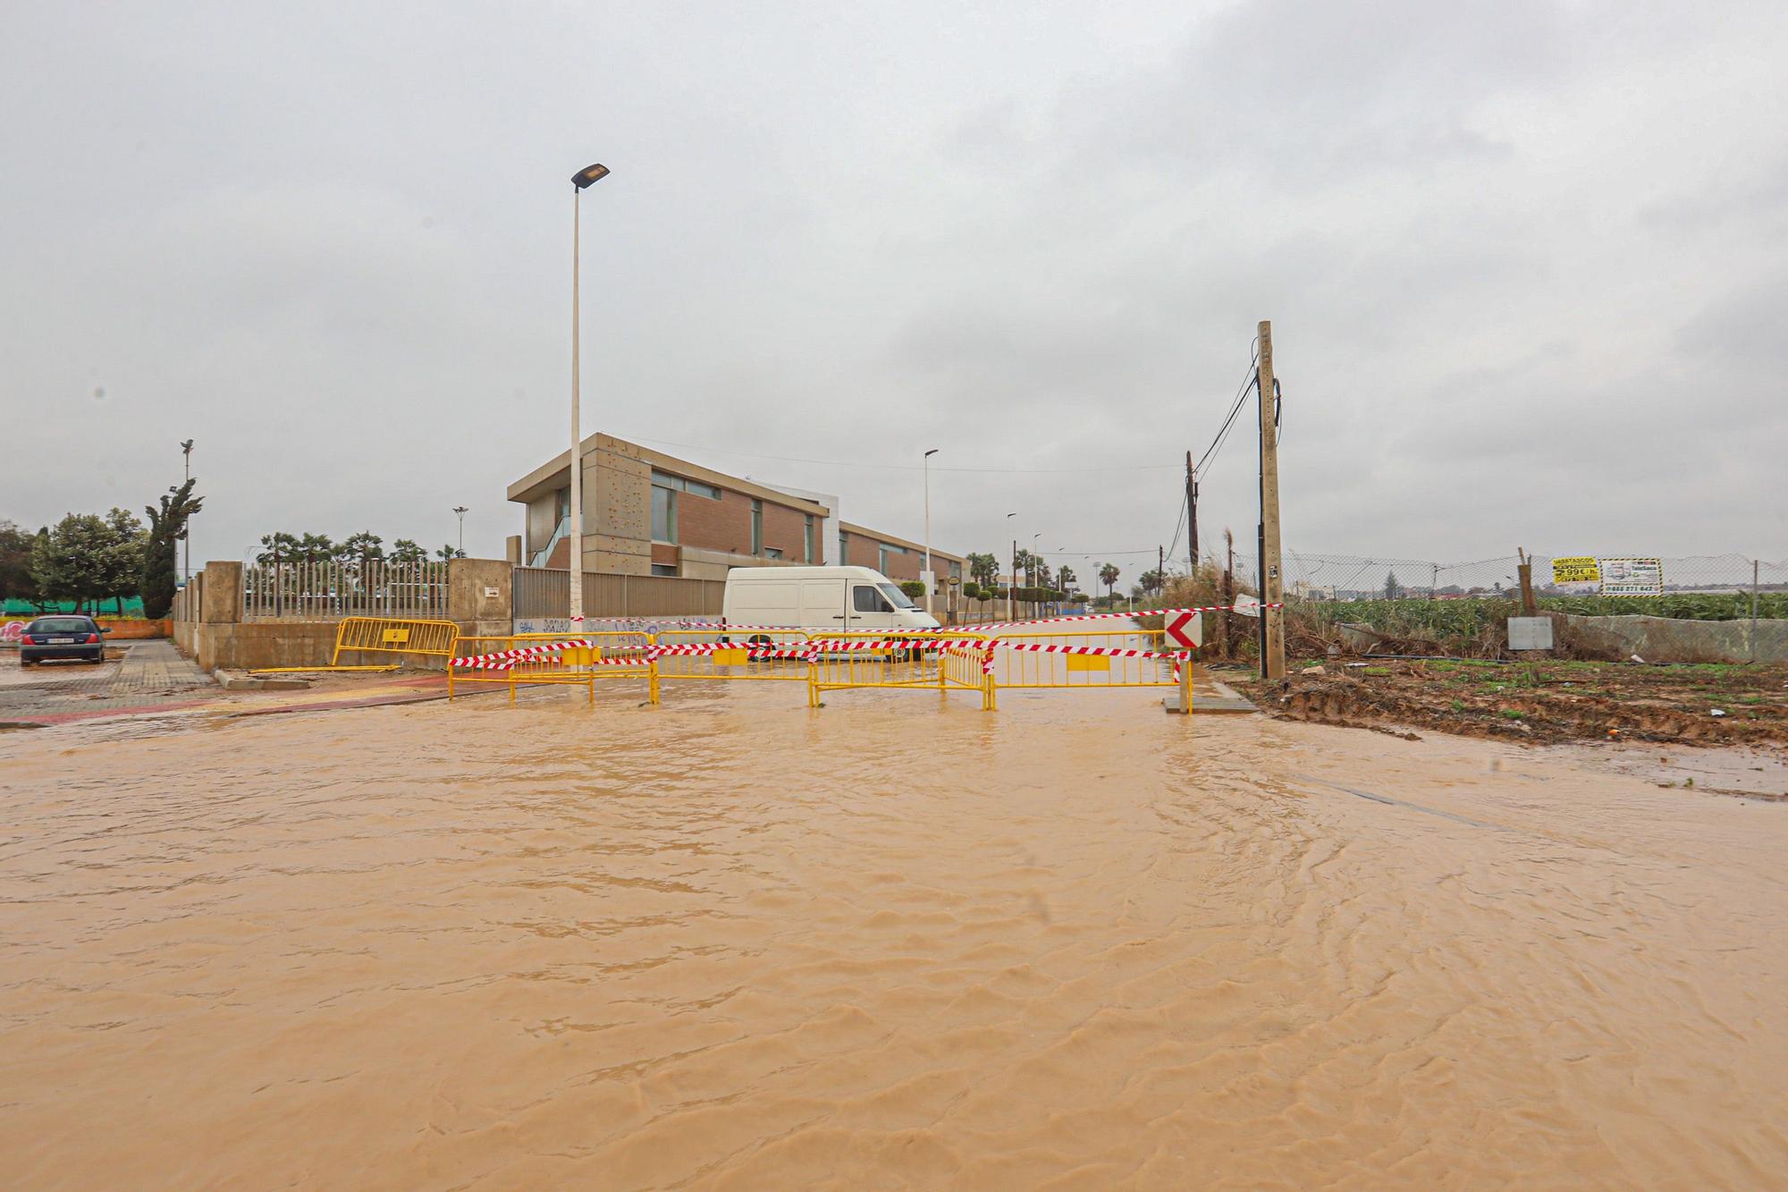
<path fill-rule="evenodd" d="M 772 625 L 810 634 L 937 628 L 873 567 L 733 567 L 726 573 L 728 625 Z"/>

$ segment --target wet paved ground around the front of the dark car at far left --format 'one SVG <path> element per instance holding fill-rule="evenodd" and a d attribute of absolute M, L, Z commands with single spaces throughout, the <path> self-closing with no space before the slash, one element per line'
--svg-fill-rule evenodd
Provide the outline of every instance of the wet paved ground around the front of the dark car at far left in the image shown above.
<path fill-rule="evenodd" d="M 25 669 L 18 653 L 0 655 L 0 723 L 54 725 L 120 712 L 191 707 L 222 689 L 172 641 L 120 643 L 116 662 L 52 662 Z"/>

